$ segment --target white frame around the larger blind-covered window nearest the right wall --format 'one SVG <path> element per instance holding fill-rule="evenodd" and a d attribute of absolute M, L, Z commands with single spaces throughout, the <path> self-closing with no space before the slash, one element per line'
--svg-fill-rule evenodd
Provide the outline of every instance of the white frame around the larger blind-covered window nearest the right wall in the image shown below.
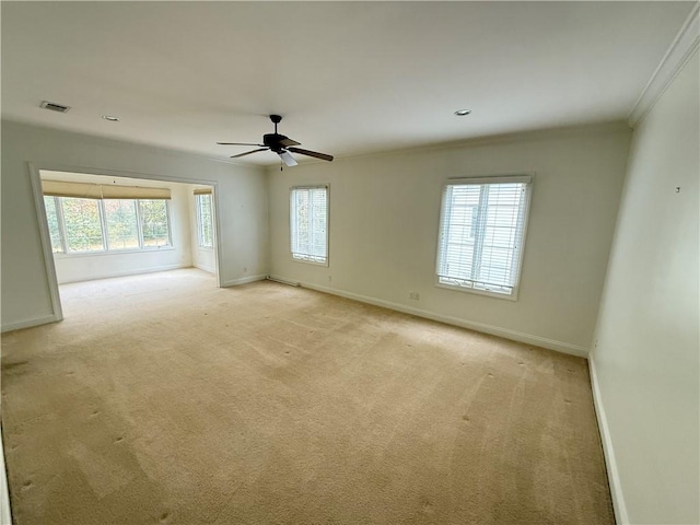
<path fill-rule="evenodd" d="M 527 228 L 529 222 L 529 212 L 530 212 L 530 202 L 533 196 L 533 186 L 535 180 L 534 173 L 520 173 L 520 174 L 510 174 L 510 175 L 481 175 L 474 177 L 458 177 L 458 178 L 448 178 L 442 186 L 442 194 L 440 199 L 440 220 L 438 223 L 438 246 L 435 249 L 435 266 L 434 266 L 434 285 L 436 288 L 442 288 L 445 290 L 452 290 L 457 292 L 466 292 L 472 293 L 476 295 L 483 295 L 488 298 L 503 299 L 506 301 L 517 301 L 521 288 L 521 279 L 523 276 L 523 260 L 525 254 L 525 246 L 527 242 Z M 486 184 L 513 184 L 513 183 L 524 183 L 525 184 L 525 198 L 523 201 L 523 211 L 522 211 L 522 236 L 521 236 L 521 247 L 517 253 L 517 260 L 514 261 L 512 268 L 516 270 L 515 282 L 512 287 L 511 293 L 497 292 L 491 290 L 482 290 L 474 287 L 463 287 L 458 284 L 450 284 L 445 282 L 441 282 L 441 276 L 439 273 L 440 269 L 440 259 L 441 259 L 441 248 L 442 248 L 442 225 L 443 225 L 443 214 L 445 212 L 445 196 L 448 186 L 467 186 L 467 185 L 486 185 Z"/>

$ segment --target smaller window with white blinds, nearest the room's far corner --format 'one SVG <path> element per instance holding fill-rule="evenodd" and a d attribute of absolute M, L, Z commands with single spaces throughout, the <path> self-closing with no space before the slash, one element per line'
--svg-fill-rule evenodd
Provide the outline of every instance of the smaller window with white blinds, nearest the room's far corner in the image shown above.
<path fill-rule="evenodd" d="M 328 265 L 328 188 L 292 188 L 290 238 L 296 260 Z"/>

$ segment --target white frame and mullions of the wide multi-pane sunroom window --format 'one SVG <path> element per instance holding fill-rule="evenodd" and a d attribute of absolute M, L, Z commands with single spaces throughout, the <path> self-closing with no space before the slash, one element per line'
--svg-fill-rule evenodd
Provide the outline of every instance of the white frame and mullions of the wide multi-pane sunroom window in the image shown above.
<path fill-rule="evenodd" d="M 107 231 L 107 214 L 104 207 L 104 201 L 109 199 L 90 199 L 97 201 L 97 211 L 100 217 L 100 224 L 102 229 L 102 244 L 103 249 L 100 250 L 72 250 L 68 247 L 68 236 L 66 232 L 66 217 L 63 213 L 63 203 L 61 199 L 66 197 L 56 196 L 56 195 L 42 195 L 43 199 L 54 199 L 56 206 L 56 217 L 58 221 L 58 230 L 60 235 L 60 243 L 62 252 L 54 252 L 52 243 L 51 243 L 51 254 L 54 257 L 95 257 L 95 256 L 104 256 L 104 255 L 119 255 L 119 254 L 139 254 L 144 252 L 159 252 L 159 250 L 171 250 L 175 249 L 173 246 L 173 221 L 171 217 L 171 202 L 170 199 L 117 199 L 117 200 L 133 200 L 136 203 L 136 218 L 137 218 L 137 233 L 139 237 L 139 247 L 138 248 L 124 248 L 124 249 L 110 249 L 109 248 L 109 238 Z M 165 201 L 165 217 L 167 221 L 167 244 L 163 246 L 144 246 L 143 242 L 143 229 L 142 229 L 142 218 L 141 218 L 141 207 L 139 205 L 140 200 L 163 200 Z M 45 200 L 44 206 L 46 207 Z M 50 242 L 50 237 L 49 237 Z"/>

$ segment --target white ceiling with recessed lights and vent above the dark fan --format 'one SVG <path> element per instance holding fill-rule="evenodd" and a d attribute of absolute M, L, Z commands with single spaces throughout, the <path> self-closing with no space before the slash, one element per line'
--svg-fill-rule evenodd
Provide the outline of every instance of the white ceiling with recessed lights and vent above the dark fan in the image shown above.
<path fill-rule="evenodd" d="M 3 1 L 2 117 L 222 159 L 270 113 L 336 156 L 619 120 L 692 7 Z"/>

